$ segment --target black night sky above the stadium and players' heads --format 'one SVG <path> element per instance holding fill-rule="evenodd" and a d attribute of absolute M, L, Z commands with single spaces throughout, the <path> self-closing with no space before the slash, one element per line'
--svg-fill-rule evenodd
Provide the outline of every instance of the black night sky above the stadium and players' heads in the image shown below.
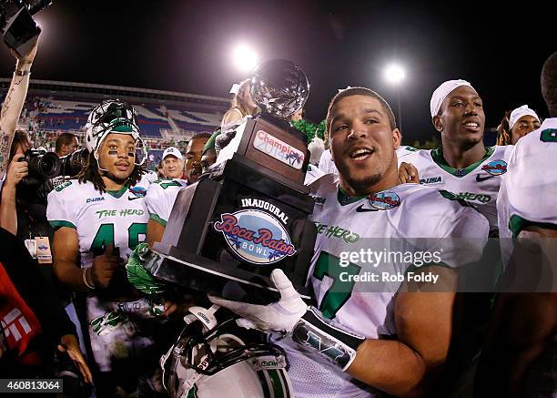
<path fill-rule="evenodd" d="M 241 42 L 262 61 L 287 58 L 306 72 L 307 116 L 316 122 L 348 85 L 375 89 L 398 114 L 397 88 L 381 74 L 392 61 L 407 69 L 400 87 L 406 143 L 436 135 L 430 95 L 451 78 L 478 90 L 488 128 L 523 104 L 547 117 L 540 72 L 557 50 L 553 10 L 490 4 L 54 0 L 36 15 L 43 35 L 32 77 L 228 97 L 232 83 L 248 77 L 232 64 Z M 10 77 L 5 46 L 0 65 L 0 76 Z"/>

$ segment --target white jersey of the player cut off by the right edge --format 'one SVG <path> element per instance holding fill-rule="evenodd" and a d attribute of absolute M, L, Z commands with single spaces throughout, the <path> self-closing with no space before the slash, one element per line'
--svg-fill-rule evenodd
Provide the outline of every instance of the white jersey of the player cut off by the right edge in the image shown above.
<path fill-rule="evenodd" d="M 521 138 L 509 158 L 509 171 L 502 179 L 497 199 L 504 264 L 511 256 L 511 238 L 524 227 L 557 228 L 554 158 L 557 158 L 557 117 L 545 119 L 541 128 Z"/>

